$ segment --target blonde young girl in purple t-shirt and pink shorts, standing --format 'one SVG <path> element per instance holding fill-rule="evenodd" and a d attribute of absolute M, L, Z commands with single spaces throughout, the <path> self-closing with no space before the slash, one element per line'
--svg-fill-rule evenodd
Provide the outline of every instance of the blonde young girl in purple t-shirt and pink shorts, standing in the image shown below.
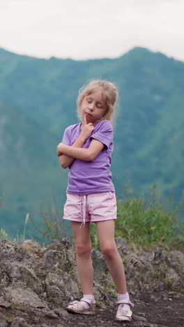
<path fill-rule="evenodd" d="M 95 314 L 90 222 L 96 224 L 100 249 L 117 289 L 116 321 L 131 321 L 123 262 L 114 240 L 116 196 L 111 165 L 112 115 L 118 93 L 112 82 L 93 80 L 79 90 L 81 123 L 69 126 L 57 147 L 63 168 L 69 168 L 67 201 L 63 219 L 69 219 L 75 238 L 77 267 L 83 298 L 68 304 L 68 312 Z"/>

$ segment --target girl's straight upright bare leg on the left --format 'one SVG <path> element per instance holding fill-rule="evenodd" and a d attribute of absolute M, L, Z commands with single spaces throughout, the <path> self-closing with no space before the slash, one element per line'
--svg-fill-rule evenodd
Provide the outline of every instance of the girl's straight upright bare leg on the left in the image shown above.
<path fill-rule="evenodd" d="M 75 238 L 77 252 L 77 267 L 79 279 L 84 294 L 93 294 L 93 264 L 91 261 L 90 223 L 86 222 L 84 228 L 81 223 L 72 221 L 72 232 Z"/>

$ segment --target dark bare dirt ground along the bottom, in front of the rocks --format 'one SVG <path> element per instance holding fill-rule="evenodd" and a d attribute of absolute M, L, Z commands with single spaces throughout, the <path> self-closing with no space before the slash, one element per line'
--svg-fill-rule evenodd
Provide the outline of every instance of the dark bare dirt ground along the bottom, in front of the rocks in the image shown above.
<path fill-rule="evenodd" d="M 141 292 L 131 300 L 135 303 L 131 322 L 116 322 L 116 307 L 109 310 L 97 307 L 95 316 L 68 314 L 66 319 L 47 318 L 41 310 L 13 310 L 0 307 L 0 317 L 22 317 L 30 327 L 111 327 L 123 325 L 129 327 L 184 327 L 184 294 L 169 295 L 165 292 Z M 4 325 L 2 325 L 4 326 Z M 10 322 L 8 323 L 10 326 Z M 1 322 L 0 322 L 1 327 Z"/>

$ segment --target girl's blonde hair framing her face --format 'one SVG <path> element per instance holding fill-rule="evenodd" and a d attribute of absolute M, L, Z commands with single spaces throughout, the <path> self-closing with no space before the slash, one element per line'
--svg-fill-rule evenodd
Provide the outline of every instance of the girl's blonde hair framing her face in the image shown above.
<path fill-rule="evenodd" d="M 107 105 L 107 112 L 105 112 L 105 116 L 102 117 L 102 119 L 112 120 L 116 101 L 118 99 L 118 90 L 114 83 L 108 82 L 107 80 L 91 80 L 88 85 L 84 85 L 84 87 L 79 89 L 79 95 L 77 98 L 77 115 L 79 119 L 81 119 L 80 107 L 84 97 L 88 96 L 94 89 L 98 88 L 100 88 L 102 93 L 105 95 L 105 102 Z"/>

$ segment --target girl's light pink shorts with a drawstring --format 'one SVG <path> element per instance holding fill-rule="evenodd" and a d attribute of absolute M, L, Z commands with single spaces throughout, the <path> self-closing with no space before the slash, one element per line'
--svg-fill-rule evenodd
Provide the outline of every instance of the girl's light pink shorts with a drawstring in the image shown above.
<path fill-rule="evenodd" d="M 114 192 L 89 195 L 66 194 L 63 219 L 85 222 L 115 220 L 117 207 Z"/>

